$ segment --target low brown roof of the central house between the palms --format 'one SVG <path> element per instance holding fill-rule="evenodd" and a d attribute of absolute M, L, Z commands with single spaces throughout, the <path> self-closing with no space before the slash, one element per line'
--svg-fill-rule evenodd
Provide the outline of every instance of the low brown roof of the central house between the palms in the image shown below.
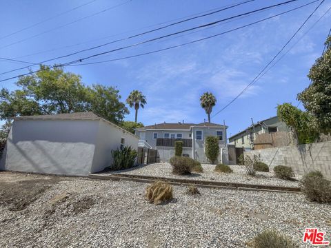
<path fill-rule="evenodd" d="M 159 123 L 154 125 L 148 125 L 145 127 L 137 128 L 138 131 L 143 130 L 190 130 L 191 127 L 223 127 L 223 125 L 215 124 L 215 123 Z M 225 126 L 227 127 L 227 126 Z"/>

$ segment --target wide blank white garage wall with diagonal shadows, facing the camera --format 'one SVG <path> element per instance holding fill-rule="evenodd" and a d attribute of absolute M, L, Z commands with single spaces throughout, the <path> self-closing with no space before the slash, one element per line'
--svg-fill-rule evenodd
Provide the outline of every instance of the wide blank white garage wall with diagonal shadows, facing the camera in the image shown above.
<path fill-rule="evenodd" d="M 98 130 L 99 120 L 16 120 L 1 169 L 86 176 Z"/>

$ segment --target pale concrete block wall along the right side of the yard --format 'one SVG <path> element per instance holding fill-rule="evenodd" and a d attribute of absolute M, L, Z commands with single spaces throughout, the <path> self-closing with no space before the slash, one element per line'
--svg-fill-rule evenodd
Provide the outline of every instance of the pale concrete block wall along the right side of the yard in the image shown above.
<path fill-rule="evenodd" d="M 331 179 L 331 141 L 244 152 L 245 156 L 254 154 L 260 155 L 261 161 L 271 169 L 276 165 L 286 165 L 297 174 L 319 170 L 325 178 Z"/>

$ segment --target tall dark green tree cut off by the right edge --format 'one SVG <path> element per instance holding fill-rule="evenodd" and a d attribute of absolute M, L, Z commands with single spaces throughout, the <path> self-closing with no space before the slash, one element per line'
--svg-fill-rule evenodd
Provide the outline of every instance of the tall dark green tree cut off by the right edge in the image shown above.
<path fill-rule="evenodd" d="M 315 118 L 321 132 L 331 132 L 331 36 L 325 41 L 326 50 L 310 68 L 311 83 L 298 94 L 306 110 Z"/>

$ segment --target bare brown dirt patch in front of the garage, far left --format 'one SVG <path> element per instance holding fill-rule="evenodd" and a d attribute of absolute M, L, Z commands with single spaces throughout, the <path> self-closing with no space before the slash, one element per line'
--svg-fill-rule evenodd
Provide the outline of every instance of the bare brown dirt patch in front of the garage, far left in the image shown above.
<path fill-rule="evenodd" d="M 14 180 L 15 178 L 10 178 L 10 176 L 6 179 L 13 180 L 0 181 L 0 205 L 7 206 L 10 211 L 25 209 L 52 185 L 65 180 L 62 177 L 37 179 L 36 176 L 32 176 L 32 178 L 27 176 L 27 180 Z"/>

